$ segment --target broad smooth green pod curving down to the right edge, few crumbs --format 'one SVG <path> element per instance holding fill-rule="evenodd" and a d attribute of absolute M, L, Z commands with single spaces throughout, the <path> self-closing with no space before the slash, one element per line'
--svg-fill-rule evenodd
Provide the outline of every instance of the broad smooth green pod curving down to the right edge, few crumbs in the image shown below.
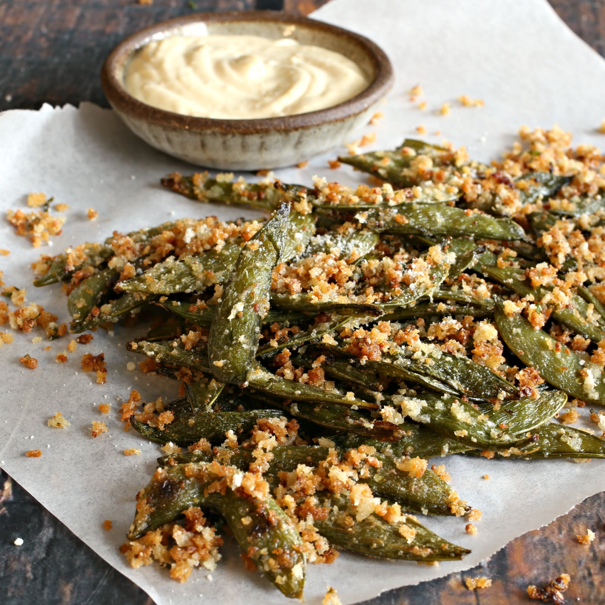
<path fill-rule="evenodd" d="M 577 353 L 561 347 L 560 342 L 544 330 L 534 330 L 522 315 L 506 315 L 504 302 L 498 297 L 495 297 L 494 319 L 506 345 L 525 365 L 538 370 L 548 384 L 572 397 L 605 404 L 605 382 L 600 368 L 595 372 L 590 363 L 581 364 Z"/>

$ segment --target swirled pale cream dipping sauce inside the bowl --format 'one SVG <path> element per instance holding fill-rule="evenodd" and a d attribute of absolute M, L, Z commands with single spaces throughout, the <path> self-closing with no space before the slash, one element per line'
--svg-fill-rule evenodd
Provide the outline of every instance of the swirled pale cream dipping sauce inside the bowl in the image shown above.
<path fill-rule="evenodd" d="M 149 42 L 125 74 L 147 105 L 216 119 L 292 116 L 332 107 L 368 87 L 361 68 L 291 38 L 169 36 Z"/>

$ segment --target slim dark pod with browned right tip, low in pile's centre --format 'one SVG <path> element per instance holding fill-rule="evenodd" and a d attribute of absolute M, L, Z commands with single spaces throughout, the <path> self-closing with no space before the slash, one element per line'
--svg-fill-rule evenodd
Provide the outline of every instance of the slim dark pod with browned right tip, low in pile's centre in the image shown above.
<path fill-rule="evenodd" d="M 252 393 L 252 399 L 261 405 L 269 404 L 285 410 L 290 416 L 309 420 L 320 427 L 333 431 L 345 431 L 380 441 L 396 441 L 402 435 L 402 429 L 392 422 L 374 420 L 362 411 L 352 410 L 340 405 L 295 401 L 287 404 L 283 399 L 267 397 L 265 393 Z"/>

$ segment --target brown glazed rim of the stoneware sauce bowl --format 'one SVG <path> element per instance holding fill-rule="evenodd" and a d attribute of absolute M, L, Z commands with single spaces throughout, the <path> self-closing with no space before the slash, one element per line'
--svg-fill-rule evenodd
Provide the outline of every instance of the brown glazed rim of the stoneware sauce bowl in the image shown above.
<path fill-rule="evenodd" d="M 123 60 L 137 48 L 140 48 L 152 36 L 177 27 L 183 27 L 195 22 L 230 22 L 230 21 L 271 21 L 284 25 L 305 25 L 319 31 L 327 31 L 338 36 L 344 36 L 353 41 L 369 57 L 374 68 L 374 79 L 365 90 L 355 97 L 338 105 L 308 113 L 292 116 L 268 117 L 244 120 L 214 119 L 206 117 L 184 116 L 147 105 L 128 93 L 123 83 L 116 75 L 116 70 Z M 125 57 L 126 56 L 126 57 Z M 292 15 L 284 11 L 269 10 L 237 10 L 220 13 L 192 13 L 167 21 L 161 21 L 142 30 L 136 31 L 116 45 L 103 63 L 101 68 L 101 85 L 103 92 L 113 108 L 127 116 L 144 119 L 172 129 L 189 131 L 218 131 L 238 134 L 250 134 L 267 131 L 292 131 L 301 128 L 312 128 L 325 123 L 339 122 L 362 113 L 378 102 L 393 85 L 394 74 L 387 54 L 365 36 L 346 30 L 336 25 Z"/>

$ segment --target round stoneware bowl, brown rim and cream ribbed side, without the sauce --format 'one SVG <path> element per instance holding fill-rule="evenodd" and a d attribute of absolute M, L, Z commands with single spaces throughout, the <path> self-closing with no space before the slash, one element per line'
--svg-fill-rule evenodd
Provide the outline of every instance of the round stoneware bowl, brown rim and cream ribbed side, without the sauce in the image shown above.
<path fill-rule="evenodd" d="M 123 85 L 128 62 L 139 48 L 171 34 L 290 36 L 344 54 L 365 72 L 370 85 L 333 107 L 294 116 L 217 120 L 160 110 L 132 97 Z M 393 68 L 376 44 L 333 25 L 270 11 L 198 13 L 145 28 L 117 45 L 101 71 L 103 91 L 134 134 L 167 154 L 221 170 L 280 168 L 308 160 L 352 138 L 393 83 Z"/>

